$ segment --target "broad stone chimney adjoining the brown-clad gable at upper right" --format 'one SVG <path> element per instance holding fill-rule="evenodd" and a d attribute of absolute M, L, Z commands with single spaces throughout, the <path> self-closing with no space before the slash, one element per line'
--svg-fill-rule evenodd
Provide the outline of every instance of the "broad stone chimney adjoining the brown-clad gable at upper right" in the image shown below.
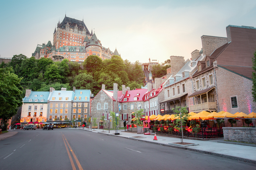
<path fill-rule="evenodd" d="M 204 55 L 211 55 L 211 53 L 228 42 L 225 37 L 214 37 L 214 36 L 202 36 L 202 47 Z"/>

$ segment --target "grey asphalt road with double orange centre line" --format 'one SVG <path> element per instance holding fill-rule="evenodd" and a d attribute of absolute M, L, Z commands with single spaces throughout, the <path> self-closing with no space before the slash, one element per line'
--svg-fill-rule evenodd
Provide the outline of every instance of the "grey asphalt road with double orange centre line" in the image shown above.
<path fill-rule="evenodd" d="M 0 141 L 0 169 L 255 170 L 256 165 L 79 129 L 36 129 Z"/>

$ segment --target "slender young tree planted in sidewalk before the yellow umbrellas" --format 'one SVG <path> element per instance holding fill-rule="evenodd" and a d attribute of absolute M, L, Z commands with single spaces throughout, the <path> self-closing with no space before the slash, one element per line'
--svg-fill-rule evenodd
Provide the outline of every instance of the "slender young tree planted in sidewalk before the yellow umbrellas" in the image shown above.
<path fill-rule="evenodd" d="M 188 120 L 189 114 L 187 108 L 176 106 L 172 109 L 175 117 L 179 117 L 175 120 L 174 128 L 178 129 L 182 133 L 181 143 L 183 142 L 183 127 L 185 126 L 186 120 Z"/>

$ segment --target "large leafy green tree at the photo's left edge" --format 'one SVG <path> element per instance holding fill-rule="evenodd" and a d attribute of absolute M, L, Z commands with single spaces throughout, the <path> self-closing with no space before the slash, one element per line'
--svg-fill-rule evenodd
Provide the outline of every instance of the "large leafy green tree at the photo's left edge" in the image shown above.
<path fill-rule="evenodd" d="M 0 119 L 2 119 L 0 127 L 6 124 L 22 105 L 21 80 L 22 78 L 18 78 L 13 73 L 12 67 L 0 68 Z"/>

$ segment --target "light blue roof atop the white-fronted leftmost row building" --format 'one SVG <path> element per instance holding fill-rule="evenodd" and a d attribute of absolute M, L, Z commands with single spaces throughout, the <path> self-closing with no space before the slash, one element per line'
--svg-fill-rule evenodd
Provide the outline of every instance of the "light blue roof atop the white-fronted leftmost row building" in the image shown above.
<path fill-rule="evenodd" d="M 47 103 L 50 92 L 33 92 L 28 97 L 23 98 L 23 103 Z M 43 102 L 41 102 L 43 99 Z M 32 100 L 31 102 L 29 100 Z M 37 102 L 35 102 L 37 100 Z"/>

